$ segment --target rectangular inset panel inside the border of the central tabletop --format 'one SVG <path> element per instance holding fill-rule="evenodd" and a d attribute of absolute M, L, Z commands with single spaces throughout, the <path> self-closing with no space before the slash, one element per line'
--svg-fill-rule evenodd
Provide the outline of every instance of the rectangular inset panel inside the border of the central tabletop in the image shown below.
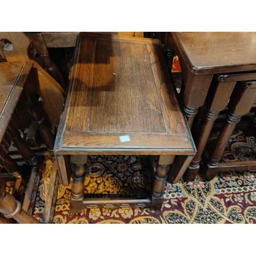
<path fill-rule="evenodd" d="M 166 133 L 147 45 L 98 39 L 95 53 L 89 132 Z"/>

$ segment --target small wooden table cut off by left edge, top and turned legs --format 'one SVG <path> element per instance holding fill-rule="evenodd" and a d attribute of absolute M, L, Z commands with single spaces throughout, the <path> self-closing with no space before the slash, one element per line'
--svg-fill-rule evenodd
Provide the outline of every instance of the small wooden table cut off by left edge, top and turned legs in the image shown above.
<path fill-rule="evenodd" d="M 42 160 L 31 151 L 26 140 L 20 136 L 17 127 L 28 99 L 24 85 L 32 66 L 32 61 L 0 63 L 0 171 L 5 168 L 10 178 L 15 178 L 13 193 L 10 195 L 5 192 L 3 178 L 6 175 L 1 177 L 2 173 L 0 174 L 0 212 L 7 218 L 14 218 L 19 223 L 39 223 L 31 214 L 39 185 L 40 170 L 44 168 Z M 34 111 L 31 110 L 31 112 Z M 31 166 L 28 186 L 20 166 L 8 155 L 12 142 Z M 21 206 L 19 201 L 22 199 L 25 189 L 24 203 Z"/>

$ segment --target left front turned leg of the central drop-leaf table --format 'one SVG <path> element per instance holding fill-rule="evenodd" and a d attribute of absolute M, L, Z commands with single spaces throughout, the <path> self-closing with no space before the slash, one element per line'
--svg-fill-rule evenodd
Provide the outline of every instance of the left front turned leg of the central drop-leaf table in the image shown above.
<path fill-rule="evenodd" d="M 84 197 L 84 176 L 86 176 L 87 155 L 70 156 L 72 188 L 70 199 L 71 212 L 81 212 Z"/>

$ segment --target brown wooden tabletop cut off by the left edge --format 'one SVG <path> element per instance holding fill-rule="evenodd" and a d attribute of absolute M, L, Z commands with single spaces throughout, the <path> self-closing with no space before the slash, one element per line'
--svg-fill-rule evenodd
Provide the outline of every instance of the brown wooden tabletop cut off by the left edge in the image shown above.
<path fill-rule="evenodd" d="M 0 142 L 22 94 L 33 61 L 0 63 Z"/>

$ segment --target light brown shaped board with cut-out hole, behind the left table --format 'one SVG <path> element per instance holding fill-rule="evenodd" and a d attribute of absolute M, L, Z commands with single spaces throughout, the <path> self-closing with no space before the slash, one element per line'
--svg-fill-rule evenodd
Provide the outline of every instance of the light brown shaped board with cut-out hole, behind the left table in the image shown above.
<path fill-rule="evenodd" d="M 32 43 L 32 34 L 25 32 L 0 32 L 0 40 L 11 42 L 13 49 L 4 49 L 6 60 L 29 61 L 29 47 Z M 8 45 L 7 45 L 8 46 Z M 44 100 L 44 109 L 47 123 L 58 126 L 63 106 L 65 91 L 37 62 L 31 60 L 33 68 L 31 81 L 27 83 L 27 92 L 34 92 Z"/>

